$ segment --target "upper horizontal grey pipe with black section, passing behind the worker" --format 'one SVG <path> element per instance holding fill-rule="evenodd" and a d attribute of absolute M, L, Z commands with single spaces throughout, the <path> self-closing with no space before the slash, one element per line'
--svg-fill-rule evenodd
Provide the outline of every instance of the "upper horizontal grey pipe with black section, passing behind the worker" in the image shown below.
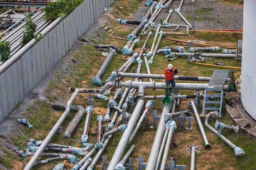
<path fill-rule="evenodd" d="M 118 77 L 138 77 L 138 78 L 153 78 L 153 79 L 165 79 L 165 76 L 162 74 L 143 74 L 143 73 L 122 73 L 118 72 Z M 175 75 L 174 79 L 178 80 L 189 80 L 189 81 L 201 81 L 209 82 L 211 77 L 197 77 L 197 76 L 182 76 Z"/>

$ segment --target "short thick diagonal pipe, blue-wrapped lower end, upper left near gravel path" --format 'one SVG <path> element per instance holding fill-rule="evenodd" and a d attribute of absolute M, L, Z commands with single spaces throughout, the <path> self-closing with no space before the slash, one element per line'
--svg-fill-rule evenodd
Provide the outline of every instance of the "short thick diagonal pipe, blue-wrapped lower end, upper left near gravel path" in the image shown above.
<path fill-rule="evenodd" d="M 112 60 L 114 55 L 115 55 L 115 51 L 110 50 L 108 53 L 108 56 L 102 63 L 101 68 L 99 68 L 99 71 L 97 72 L 97 74 L 94 77 L 92 77 L 93 84 L 100 84 L 100 86 L 101 86 L 101 83 L 99 83 L 99 82 L 102 82 L 101 77 L 102 77 L 103 73 L 106 71 L 108 64 L 110 63 L 110 61 Z"/>

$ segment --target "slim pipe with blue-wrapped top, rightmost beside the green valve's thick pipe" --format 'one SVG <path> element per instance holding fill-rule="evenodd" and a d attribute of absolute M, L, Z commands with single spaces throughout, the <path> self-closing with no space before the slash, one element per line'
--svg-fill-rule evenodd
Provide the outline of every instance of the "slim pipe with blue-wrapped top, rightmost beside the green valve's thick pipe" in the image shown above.
<path fill-rule="evenodd" d="M 171 124 L 171 126 L 169 127 L 170 129 L 169 129 L 169 132 L 168 132 L 168 136 L 167 136 L 167 140 L 166 140 L 166 144 L 165 144 L 165 148 L 164 148 L 164 154 L 163 154 L 163 157 L 162 157 L 162 163 L 161 163 L 161 166 L 160 166 L 160 170 L 165 169 L 169 149 L 170 149 L 170 146 L 171 146 L 171 139 L 173 137 L 173 132 L 177 128 L 176 123 L 175 123 L 174 120 L 170 120 L 170 121 L 168 121 L 168 123 Z"/>

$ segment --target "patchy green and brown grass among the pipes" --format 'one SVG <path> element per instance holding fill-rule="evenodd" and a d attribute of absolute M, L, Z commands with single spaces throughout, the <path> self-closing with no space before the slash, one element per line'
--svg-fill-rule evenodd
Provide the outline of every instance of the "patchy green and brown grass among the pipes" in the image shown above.
<path fill-rule="evenodd" d="M 121 0 L 117 0 L 116 2 L 122 2 Z M 122 12 L 120 10 L 121 15 L 128 15 L 128 13 L 132 13 L 134 10 L 136 10 L 137 4 L 135 4 L 134 1 L 132 1 L 130 6 L 127 8 L 134 8 L 130 9 L 130 11 L 124 9 Z M 123 7 L 123 4 L 119 4 L 115 6 L 115 8 Z M 125 6 L 124 6 L 125 7 Z M 202 9 L 202 13 L 208 13 L 212 9 L 211 8 L 205 8 Z M 209 18 L 208 18 L 209 19 Z M 132 29 L 131 29 L 132 30 Z M 124 37 L 126 38 L 127 35 L 131 32 L 131 30 L 126 31 L 119 31 L 117 30 L 115 32 L 115 36 Z M 153 31 L 154 32 L 154 31 Z M 116 44 L 117 47 L 122 49 L 122 47 L 126 44 L 126 40 L 116 40 L 116 39 L 109 39 L 108 34 L 101 34 L 97 35 L 99 31 L 95 31 L 88 37 L 89 40 L 93 41 L 95 44 Z M 172 41 L 166 40 L 167 36 L 164 36 L 161 43 L 159 44 L 159 48 L 162 46 L 172 46 L 177 45 L 181 46 L 181 44 L 175 43 L 171 44 Z M 220 46 L 225 46 L 225 44 L 228 42 L 229 46 L 236 46 L 237 40 L 242 40 L 241 34 L 231 34 L 231 33 L 211 33 L 211 32 L 196 32 L 195 34 L 189 34 L 187 36 L 168 36 L 168 38 L 176 38 L 180 40 L 204 40 L 208 44 L 218 44 Z M 146 39 L 146 36 L 142 36 L 141 43 L 136 45 L 136 47 L 140 50 L 141 46 L 144 43 L 144 40 Z M 147 50 L 150 50 L 150 47 L 153 43 L 154 35 L 150 37 L 150 40 L 148 41 Z M 94 41 L 95 40 L 95 41 Z M 186 51 L 187 51 L 186 47 Z M 106 49 L 108 51 L 108 49 Z M 45 96 L 50 102 L 54 102 L 56 99 L 63 101 L 63 105 L 66 104 L 67 100 L 70 98 L 72 94 L 68 94 L 68 87 L 76 87 L 76 88 L 100 88 L 95 86 L 94 84 L 91 84 L 91 78 L 94 77 L 94 75 L 97 73 L 99 68 L 101 67 L 101 64 L 103 63 L 105 57 L 101 54 L 102 50 L 97 51 L 97 49 L 92 46 L 92 44 L 86 44 L 81 46 L 79 50 L 76 51 L 74 55 L 72 55 L 72 58 L 76 61 L 76 63 L 72 62 L 71 60 L 68 61 L 67 65 L 69 67 L 63 68 L 63 71 L 56 74 L 54 77 L 54 80 L 52 82 L 49 82 L 47 88 L 45 89 Z M 221 52 L 220 52 L 221 53 Z M 142 57 L 141 60 L 144 60 Z M 149 60 L 149 59 L 148 59 Z M 102 76 L 103 82 L 109 77 L 111 72 L 119 68 L 122 64 L 126 62 L 126 59 L 122 54 L 117 54 L 113 57 L 112 61 L 108 65 L 108 68 L 106 69 L 105 73 Z M 235 66 L 240 67 L 240 64 L 236 63 L 234 59 L 229 58 L 212 58 L 204 60 L 203 63 L 205 64 L 213 64 L 215 62 L 224 62 L 226 63 L 226 66 Z M 164 54 L 156 54 L 155 59 L 153 61 L 153 64 L 150 65 L 150 71 L 152 74 L 163 74 L 164 69 L 168 63 L 168 58 L 164 57 Z M 186 57 L 178 57 L 175 60 L 172 61 L 172 64 L 175 68 L 178 69 L 179 75 L 189 75 L 189 76 L 205 76 L 205 77 L 211 77 L 213 74 L 213 71 L 215 69 L 219 69 L 218 67 L 210 67 L 210 66 L 203 66 L 203 65 L 197 65 L 187 62 Z M 137 63 L 135 62 L 132 67 L 137 67 Z M 229 68 L 224 68 L 229 69 Z M 128 73 L 132 73 L 132 69 L 129 68 Z M 146 67 L 143 62 L 141 67 L 141 73 L 146 73 Z M 235 73 L 235 78 L 237 79 L 241 74 L 241 71 L 238 70 Z M 121 81 L 128 80 L 129 78 L 122 78 Z M 144 79 L 145 82 L 148 82 L 148 79 Z M 156 79 L 156 82 L 164 82 L 164 79 Z M 181 81 L 177 80 L 178 83 L 183 83 L 187 81 Z M 191 82 L 192 83 L 192 82 Z M 195 82 L 193 82 L 195 83 Z M 201 82 L 199 82 L 201 83 Z M 117 87 L 118 88 L 118 87 Z M 114 91 L 117 89 L 115 88 L 111 95 L 113 95 Z M 124 90 L 124 88 L 122 88 Z M 194 94 L 195 91 L 186 91 L 181 90 L 180 93 L 182 94 Z M 145 90 L 146 95 L 164 95 L 164 91 L 162 89 L 156 89 L 155 91 L 152 91 L 152 89 L 146 89 Z M 86 99 L 88 94 L 80 93 L 78 97 L 76 97 L 73 104 L 78 104 L 81 106 L 85 106 Z M 110 96 L 111 96 L 110 95 Z M 108 101 L 97 99 L 94 94 L 92 95 L 94 99 L 94 108 L 106 108 L 108 105 Z M 187 105 L 187 101 L 181 100 L 181 104 Z M 86 107 L 86 106 L 85 106 Z M 144 108 L 143 108 L 144 109 Z M 179 109 L 177 107 L 176 109 Z M 199 110 L 202 110 L 202 101 L 199 103 Z M 150 109 L 150 126 L 153 126 L 152 121 L 152 110 L 157 110 L 157 114 L 159 115 L 162 112 L 162 101 L 161 100 L 155 100 L 155 104 Z M 223 108 L 225 110 L 225 108 Z M 128 113 L 130 113 L 130 109 L 127 110 Z M 99 111 L 102 114 L 104 114 L 103 111 Z M 90 135 L 89 135 L 89 141 L 90 143 L 95 143 L 95 128 L 97 126 L 97 115 L 99 115 L 99 112 L 94 112 L 91 117 L 91 123 L 90 123 Z M 11 137 L 11 140 L 15 143 L 16 146 L 19 148 L 25 148 L 24 141 L 27 138 L 34 138 L 37 140 L 45 139 L 51 128 L 54 126 L 54 123 L 58 120 L 58 118 L 63 113 L 63 110 L 53 110 L 49 103 L 47 101 L 40 101 L 36 100 L 36 102 L 29 106 L 25 113 L 22 115 L 27 115 L 27 119 L 29 120 L 29 123 L 32 124 L 33 128 L 22 128 L 20 129 L 20 133 L 18 137 Z M 72 121 L 72 118 L 76 112 L 72 111 L 67 115 L 67 118 L 61 124 L 63 129 L 67 128 L 70 121 Z M 112 110 L 110 113 L 110 116 L 112 117 L 114 114 L 114 111 Z M 222 111 L 222 117 L 219 118 L 219 120 L 222 123 L 229 124 L 230 119 L 228 115 L 225 114 L 225 111 Z M 216 120 L 209 121 L 209 124 L 214 127 Z M 58 132 L 52 137 L 51 142 L 56 144 L 64 144 L 64 145 L 70 145 L 70 146 L 77 146 L 81 147 L 80 140 L 81 140 L 81 134 L 83 133 L 83 126 L 85 122 L 85 116 L 81 119 L 79 125 L 77 126 L 76 130 L 72 134 L 72 137 L 68 140 L 63 139 L 63 132 L 59 134 Z M 103 123 L 104 125 L 108 126 L 109 122 Z M 188 147 L 190 144 L 194 143 L 200 146 L 204 146 L 204 142 L 202 141 L 202 137 L 200 135 L 198 125 L 196 124 L 196 120 L 194 119 L 192 121 L 193 130 L 192 131 L 185 131 L 177 129 L 175 133 L 173 134 L 172 144 L 177 144 L 177 147 L 174 147 L 171 145 L 170 152 L 168 155 L 168 159 L 170 157 L 176 157 L 177 162 L 176 164 L 186 165 L 186 168 L 190 166 L 190 160 L 191 157 L 189 154 L 185 152 L 186 147 Z M 177 124 L 179 122 L 177 121 Z M 187 123 L 185 122 L 185 127 L 187 126 Z M 153 143 L 154 134 L 156 132 L 157 128 L 151 128 L 146 127 L 144 124 L 139 129 L 139 132 L 137 133 L 137 136 L 132 142 L 128 143 L 128 146 L 126 147 L 126 151 L 129 149 L 129 146 L 132 144 L 135 144 L 135 150 L 132 152 L 131 157 L 134 158 L 134 169 L 138 170 L 138 157 L 143 156 L 144 157 L 144 163 L 146 163 L 147 158 L 150 153 L 151 145 Z M 196 164 L 198 163 L 200 167 L 204 170 L 215 170 L 216 167 L 218 169 L 227 170 L 226 167 L 231 167 L 233 169 L 238 170 L 253 170 L 256 169 L 256 163 L 255 163 L 255 157 L 256 157 L 256 141 L 255 139 L 250 139 L 249 137 L 245 137 L 241 133 L 234 134 L 234 132 L 223 130 L 222 135 L 225 135 L 227 139 L 232 141 L 234 144 L 239 146 L 240 148 L 243 148 L 245 150 L 246 155 L 243 155 L 242 157 L 235 157 L 234 156 L 234 150 L 231 149 L 227 144 L 225 144 L 218 136 L 213 134 L 210 130 L 204 127 L 204 130 L 207 134 L 207 137 L 209 139 L 209 143 L 212 145 L 212 148 L 210 150 L 205 150 L 203 147 L 200 149 L 201 153 L 196 155 Z M 108 147 L 104 150 L 104 155 L 107 155 L 107 160 L 110 161 L 112 158 L 113 153 L 115 152 L 115 149 L 117 147 L 117 144 L 119 143 L 119 140 L 121 138 L 122 132 L 117 132 L 115 135 L 113 135 L 112 139 L 110 140 Z M 180 141 L 180 137 L 185 136 L 184 140 Z M 216 152 L 217 149 L 220 149 L 220 152 Z M 205 155 L 211 155 L 211 157 L 205 157 Z M 224 156 L 223 156 L 224 155 Z M 213 157 L 214 156 L 214 157 Z M 77 157 L 79 157 L 77 155 Z M 40 157 L 40 159 L 46 159 L 45 157 Z M 0 161 L 4 163 L 4 166 L 7 168 L 12 168 L 12 161 L 22 161 L 25 160 L 21 157 L 18 157 L 17 155 L 14 155 L 11 152 L 7 152 L 4 156 L 0 156 Z M 25 163 L 27 163 L 28 160 L 25 160 Z M 60 163 L 62 161 L 54 161 L 52 163 L 49 163 L 47 165 L 43 166 L 35 166 L 32 168 L 32 170 L 44 170 L 44 169 L 52 169 L 54 166 L 56 166 L 57 163 Z M 167 161 L 169 163 L 169 160 Z M 101 165 L 101 159 L 97 163 L 97 165 Z M 96 167 L 96 169 L 101 169 Z"/>

